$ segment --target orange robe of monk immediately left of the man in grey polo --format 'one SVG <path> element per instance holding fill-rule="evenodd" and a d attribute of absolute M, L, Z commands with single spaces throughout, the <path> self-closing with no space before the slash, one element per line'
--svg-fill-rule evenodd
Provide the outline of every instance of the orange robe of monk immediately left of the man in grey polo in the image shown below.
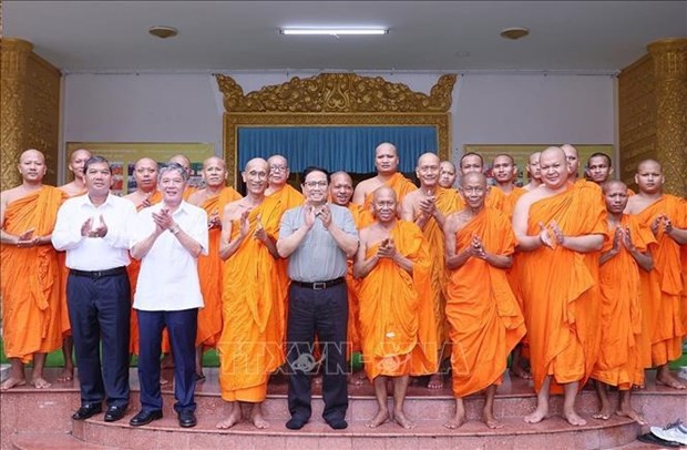
<path fill-rule="evenodd" d="M 284 362 L 284 301 L 273 274 L 277 267 L 267 246 L 250 237 L 258 224 L 271 237 L 279 234 L 281 211 L 273 197 L 250 212 L 250 229 L 224 263 L 222 315 L 224 326 L 217 344 L 219 386 L 226 401 L 260 402 L 267 395 L 269 374 Z M 239 233 L 232 223 L 232 239 Z"/>

